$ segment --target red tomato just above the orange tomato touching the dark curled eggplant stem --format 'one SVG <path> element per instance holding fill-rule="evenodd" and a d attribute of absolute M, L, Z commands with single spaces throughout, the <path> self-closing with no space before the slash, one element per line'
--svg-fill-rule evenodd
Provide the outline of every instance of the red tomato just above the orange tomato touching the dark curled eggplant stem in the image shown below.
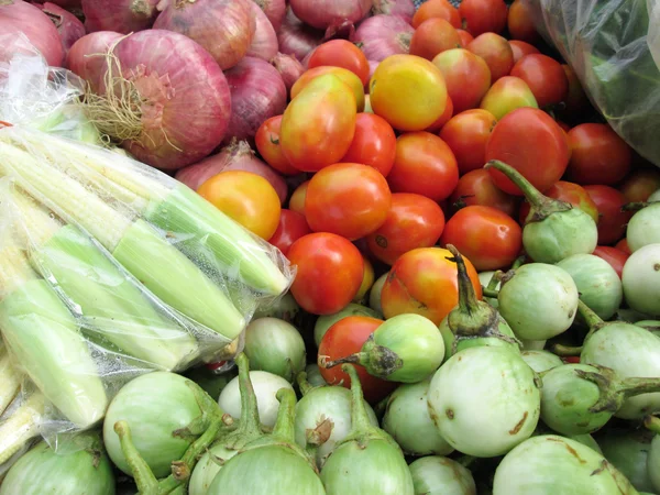
<path fill-rule="evenodd" d="M 444 229 L 444 213 L 436 201 L 420 195 L 392 195 L 387 220 L 366 242 L 371 253 L 388 265 L 404 253 L 417 248 L 430 248 Z"/>

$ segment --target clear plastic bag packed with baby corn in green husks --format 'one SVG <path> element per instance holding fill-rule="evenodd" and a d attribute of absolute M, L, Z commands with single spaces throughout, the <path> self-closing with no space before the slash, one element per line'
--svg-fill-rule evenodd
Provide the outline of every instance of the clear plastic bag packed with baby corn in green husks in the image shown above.
<path fill-rule="evenodd" d="M 0 332 L 50 441 L 140 374 L 231 360 L 295 276 L 187 186 L 81 142 L 79 95 L 40 57 L 0 65 Z"/>

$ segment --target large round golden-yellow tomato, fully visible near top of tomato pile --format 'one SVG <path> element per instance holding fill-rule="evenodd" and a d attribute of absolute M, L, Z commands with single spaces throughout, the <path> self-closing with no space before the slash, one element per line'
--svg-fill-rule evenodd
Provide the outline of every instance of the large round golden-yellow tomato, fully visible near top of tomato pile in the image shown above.
<path fill-rule="evenodd" d="M 370 102 L 399 131 L 421 131 L 447 106 L 447 86 L 438 67 L 416 55 L 392 55 L 378 64 L 370 81 Z"/>

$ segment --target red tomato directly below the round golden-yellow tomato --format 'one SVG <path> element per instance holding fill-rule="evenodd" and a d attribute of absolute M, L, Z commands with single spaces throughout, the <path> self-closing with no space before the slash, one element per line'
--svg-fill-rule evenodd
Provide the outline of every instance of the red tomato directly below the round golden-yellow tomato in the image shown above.
<path fill-rule="evenodd" d="M 459 183 L 457 158 L 437 135 L 408 132 L 396 140 L 396 160 L 387 182 L 393 193 L 414 193 L 441 201 Z"/>

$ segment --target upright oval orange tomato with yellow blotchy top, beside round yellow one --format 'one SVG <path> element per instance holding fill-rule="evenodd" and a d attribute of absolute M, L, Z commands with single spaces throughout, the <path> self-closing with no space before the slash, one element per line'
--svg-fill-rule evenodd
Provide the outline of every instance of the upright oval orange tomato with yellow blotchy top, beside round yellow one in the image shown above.
<path fill-rule="evenodd" d="M 284 156 L 302 172 L 338 163 L 353 142 L 356 116 L 355 96 L 345 82 L 332 74 L 314 78 L 284 111 Z"/>

